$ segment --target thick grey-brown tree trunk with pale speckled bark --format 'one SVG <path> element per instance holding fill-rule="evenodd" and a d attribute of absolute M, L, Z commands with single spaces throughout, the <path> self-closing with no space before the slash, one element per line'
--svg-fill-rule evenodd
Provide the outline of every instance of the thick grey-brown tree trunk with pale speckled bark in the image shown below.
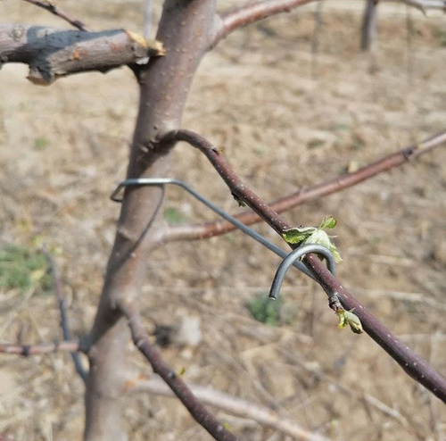
<path fill-rule="evenodd" d="M 140 72 L 140 104 L 128 177 L 165 176 L 169 149 L 158 140 L 178 129 L 186 97 L 202 55 L 209 46 L 215 0 L 167 0 L 157 38 L 166 55 L 152 59 Z M 145 279 L 151 234 L 144 236 L 161 198 L 161 189 L 133 187 L 126 190 L 115 244 L 107 267 L 103 294 L 91 333 L 90 374 L 86 394 L 88 441 L 127 439 L 122 427 L 123 395 L 130 341 L 127 321 L 119 305 L 137 297 Z"/>

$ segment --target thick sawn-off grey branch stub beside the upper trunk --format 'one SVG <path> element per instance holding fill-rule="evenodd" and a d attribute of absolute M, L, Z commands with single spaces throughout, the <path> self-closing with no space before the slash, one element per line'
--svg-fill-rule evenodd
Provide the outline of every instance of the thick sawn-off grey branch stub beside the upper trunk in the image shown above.
<path fill-rule="evenodd" d="M 28 64 L 28 79 L 38 85 L 77 72 L 110 71 L 162 54 L 161 42 L 124 29 L 84 32 L 0 24 L 0 66 L 6 62 Z"/>

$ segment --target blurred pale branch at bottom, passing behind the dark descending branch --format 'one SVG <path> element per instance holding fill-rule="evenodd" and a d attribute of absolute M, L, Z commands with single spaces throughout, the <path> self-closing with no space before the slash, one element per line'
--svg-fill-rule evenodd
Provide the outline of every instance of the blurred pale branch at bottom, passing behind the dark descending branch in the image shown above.
<path fill-rule="evenodd" d="M 203 403 L 237 417 L 254 420 L 262 426 L 275 429 L 294 439 L 304 441 L 328 441 L 328 438 L 302 429 L 295 421 L 288 420 L 267 407 L 253 404 L 241 398 L 224 394 L 210 387 L 189 385 L 194 395 Z M 128 388 L 130 392 L 148 392 L 162 396 L 175 396 L 169 387 L 160 379 L 137 380 Z"/>

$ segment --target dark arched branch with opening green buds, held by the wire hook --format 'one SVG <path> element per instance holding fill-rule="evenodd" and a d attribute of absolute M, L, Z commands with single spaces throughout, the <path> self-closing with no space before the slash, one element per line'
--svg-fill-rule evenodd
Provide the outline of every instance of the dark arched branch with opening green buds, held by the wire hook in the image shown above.
<path fill-rule="evenodd" d="M 186 141 L 191 146 L 198 148 L 206 155 L 216 171 L 219 172 L 220 177 L 226 182 L 232 195 L 243 201 L 244 204 L 250 206 L 281 237 L 284 229 L 292 227 L 268 206 L 268 204 L 264 203 L 250 188 L 244 185 L 242 180 L 231 169 L 223 154 L 221 154 L 219 149 L 212 146 L 210 141 L 194 132 L 184 129 L 170 132 L 165 137 L 165 140 L 169 144 L 174 141 Z M 296 224 L 298 223 L 296 222 Z M 359 304 L 358 300 L 335 279 L 315 254 L 307 254 L 302 262 L 313 273 L 315 279 L 327 295 L 336 293 L 346 310 L 355 310 L 355 314 L 358 315 L 368 335 L 390 354 L 393 360 L 398 362 L 410 377 L 417 380 L 446 403 L 446 379 L 442 375 L 435 371 L 419 355 L 413 353 L 392 331 L 385 328 L 362 304 Z"/>

